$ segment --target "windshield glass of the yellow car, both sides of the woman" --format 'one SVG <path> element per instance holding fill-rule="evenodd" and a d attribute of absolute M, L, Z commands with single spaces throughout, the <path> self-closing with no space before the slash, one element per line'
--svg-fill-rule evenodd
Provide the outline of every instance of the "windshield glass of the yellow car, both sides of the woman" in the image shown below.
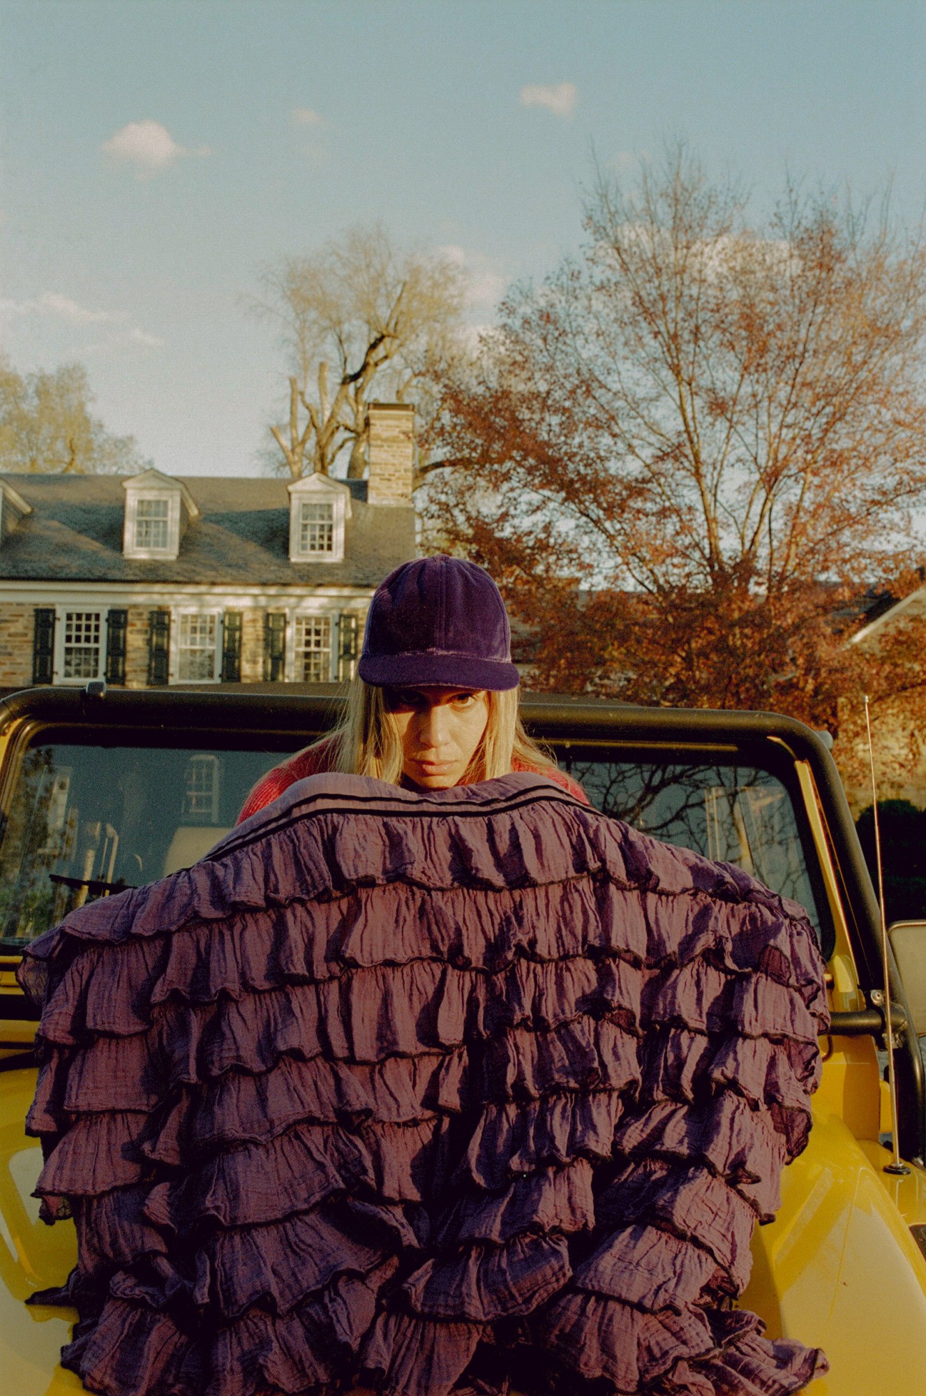
<path fill-rule="evenodd" d="M 820 933 L 791 794 L 775 775 L 658 755 L 561 755 L 605 814 L 735 863 L 806 906 Z M 266 750 L 36 743 L 22 758 L 0 845 L 3 944 L 21 946 L 93 898 L 190 867 L 279 759 Z"/>

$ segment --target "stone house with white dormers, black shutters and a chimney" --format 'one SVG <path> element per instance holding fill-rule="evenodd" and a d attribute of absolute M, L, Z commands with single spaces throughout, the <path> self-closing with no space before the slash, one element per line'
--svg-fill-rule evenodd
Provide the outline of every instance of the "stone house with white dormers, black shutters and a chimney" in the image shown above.
<path fill-rule="evenodd" d="M 365 480 L 0 475 L 0 687 L 331 683 L 416 554 L 413 409 Z"/>

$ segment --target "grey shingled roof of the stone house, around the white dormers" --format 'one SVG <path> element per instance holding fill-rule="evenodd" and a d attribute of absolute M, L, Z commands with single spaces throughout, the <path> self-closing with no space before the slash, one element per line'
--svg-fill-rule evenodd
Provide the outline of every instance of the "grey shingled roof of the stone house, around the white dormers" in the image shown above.
<path fill-rule="evenodd" d="M 32 507 L 0 544 L 0 581 L 190 582 L 215 586 L 375 586 L 416 556 L 414 510 L 367 504 L 347 482 L 343 563 L 290 563 L 283 479 L 184 476 L 201 517 L 176 561 L 123 557 L 120 475 L 0 475 Z"/>

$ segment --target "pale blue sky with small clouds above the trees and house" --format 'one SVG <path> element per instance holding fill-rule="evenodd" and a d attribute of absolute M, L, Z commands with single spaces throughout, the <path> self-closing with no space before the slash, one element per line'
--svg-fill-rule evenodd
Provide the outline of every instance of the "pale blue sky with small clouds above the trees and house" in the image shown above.
<path fill-rule="evenodd" d="M 470 314 L 582 240 L 600 163 L 686 140 L 926 201 L 926 8 L 866 0 L 29 0 L 0 6 L 0 342 L 79 359 L 169 473 L 259 473 L 261 262 L 381 219 L 460 248 Z"/>

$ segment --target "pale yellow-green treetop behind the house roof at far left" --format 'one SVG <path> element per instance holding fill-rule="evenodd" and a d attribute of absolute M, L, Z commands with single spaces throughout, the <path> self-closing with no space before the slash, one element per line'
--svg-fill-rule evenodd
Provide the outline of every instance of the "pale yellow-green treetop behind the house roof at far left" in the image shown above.
<path fill-rule="evenodd" d="M 0 469 L 49 473 L 132 473 L 146 461 L 134 437 L 113 436 L 91 413 L 86 370 L 18 374 L 0 357 Z"/>

